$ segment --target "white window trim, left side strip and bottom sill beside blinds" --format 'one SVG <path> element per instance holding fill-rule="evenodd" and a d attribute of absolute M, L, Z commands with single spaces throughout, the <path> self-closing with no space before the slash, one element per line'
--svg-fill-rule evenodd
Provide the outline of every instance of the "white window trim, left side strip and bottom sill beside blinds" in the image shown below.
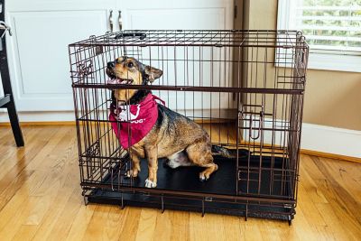
<path fill-rule="evenodd" d="M 279 0 L 277 10 L 277 29 L 289 30 L 295 22 L 292 15 L 297 1 Z M 307 36 L 306 36 L 307 41 Z M 337 70 L 361 72 L 361 51 L 312 50 L 310 48 L 308 68 L 313 70 Z"/>

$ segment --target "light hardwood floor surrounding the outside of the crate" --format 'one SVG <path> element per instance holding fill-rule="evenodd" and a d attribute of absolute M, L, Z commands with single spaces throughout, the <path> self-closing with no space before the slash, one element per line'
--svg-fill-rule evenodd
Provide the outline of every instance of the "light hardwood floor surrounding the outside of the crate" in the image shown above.
<path fill-rule="evenodd" d="M 158 209 L 85 206 L 75 128 L 0 127 L 0 240 L 361 240 L 361 164 L 301 155 L 287 222 Z"/>

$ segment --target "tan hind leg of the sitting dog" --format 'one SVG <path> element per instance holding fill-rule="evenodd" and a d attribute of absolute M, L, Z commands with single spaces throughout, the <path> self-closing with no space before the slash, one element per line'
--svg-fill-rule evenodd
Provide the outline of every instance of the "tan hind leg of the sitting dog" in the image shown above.
<path fill-rule="evenodd" d="M 190 162 L 206 168 L 206 170 L 199 173 L 200 181 L 207 181 L 209 176 L 218 170 L 218 165 L 213 162 L 210 144 L 206 142 L 191 144 L 187 147 L 186 152 L 188 153 Z"/>

